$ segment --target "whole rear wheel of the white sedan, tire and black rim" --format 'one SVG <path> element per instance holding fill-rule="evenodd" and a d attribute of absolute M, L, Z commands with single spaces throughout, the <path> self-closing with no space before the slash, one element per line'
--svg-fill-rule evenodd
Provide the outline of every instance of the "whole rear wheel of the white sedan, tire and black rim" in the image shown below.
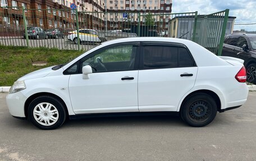
<path fill-rule="evenodd" d="M 211 95 L 198 93 L 191 95 L 181 107 L 181 117 L 190 126 L 202 127 L 213 121 L 217 104 Z"/>

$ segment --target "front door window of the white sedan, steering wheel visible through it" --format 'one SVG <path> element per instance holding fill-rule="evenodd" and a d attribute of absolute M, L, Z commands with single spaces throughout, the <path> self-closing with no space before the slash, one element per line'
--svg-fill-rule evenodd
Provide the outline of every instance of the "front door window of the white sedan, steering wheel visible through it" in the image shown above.
<path fill-rule="evenodd" d="M 89 65 L 93 72 L 134 70 L 136 49 L 132 44 L 115 45 L 82 61 L 82 67 Z"/>

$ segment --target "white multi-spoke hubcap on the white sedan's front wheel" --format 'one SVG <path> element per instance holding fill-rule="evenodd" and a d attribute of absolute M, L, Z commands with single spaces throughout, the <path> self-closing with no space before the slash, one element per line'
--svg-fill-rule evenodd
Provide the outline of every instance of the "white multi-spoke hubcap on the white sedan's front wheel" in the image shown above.
<path fill-rule="evenodd" d="M 36 122 L 43 126 L 54 125 L 58 121 L 58 109 L 51 103 L 43 102 L 35 106 L 33 116 Z"/>

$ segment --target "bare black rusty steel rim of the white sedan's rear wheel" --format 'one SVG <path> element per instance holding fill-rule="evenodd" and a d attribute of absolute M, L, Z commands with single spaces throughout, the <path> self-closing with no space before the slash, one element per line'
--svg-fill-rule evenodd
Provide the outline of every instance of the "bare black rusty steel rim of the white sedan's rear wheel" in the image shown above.
<path fill-rule="evenodd" d="M 196 100 L 189 107 L 189 118 L 195 122 L 206 121 L 212 113 L 212 106 L 204 100 Z"/>

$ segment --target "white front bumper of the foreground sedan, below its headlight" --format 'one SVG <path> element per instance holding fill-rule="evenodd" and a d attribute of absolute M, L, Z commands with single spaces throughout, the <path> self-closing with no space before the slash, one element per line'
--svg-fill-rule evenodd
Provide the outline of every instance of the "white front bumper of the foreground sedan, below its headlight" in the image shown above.
<path fill-rule="evenodd" d="M 24 111 L 26 99 L 20 91 L 6 96 L 7 107 L 13 117 L 26 117 Z"/>

